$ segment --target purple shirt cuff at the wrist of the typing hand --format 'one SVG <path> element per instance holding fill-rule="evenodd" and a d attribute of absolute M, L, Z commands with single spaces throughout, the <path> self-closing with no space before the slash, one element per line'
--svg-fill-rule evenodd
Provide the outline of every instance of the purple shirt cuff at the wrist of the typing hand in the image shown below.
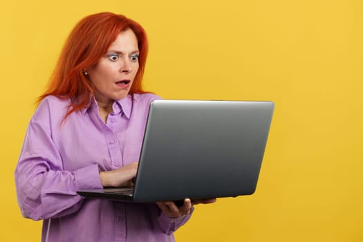
<path fill-rule="evenodd" d="M 90 165 L 75 171 L 75 183 L 77 190 L 80 189 L 102 189 L 100 170 L 98 165 Z"/>

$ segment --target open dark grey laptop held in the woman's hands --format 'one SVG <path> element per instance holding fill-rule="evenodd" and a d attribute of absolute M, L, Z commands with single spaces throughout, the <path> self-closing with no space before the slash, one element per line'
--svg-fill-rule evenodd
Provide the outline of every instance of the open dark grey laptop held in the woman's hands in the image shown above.
<path fill-rule="evenodd" d="M 134 187 L 77 191 L 135 203 L 254 194 L 273 102 L 154 100 Z"/>

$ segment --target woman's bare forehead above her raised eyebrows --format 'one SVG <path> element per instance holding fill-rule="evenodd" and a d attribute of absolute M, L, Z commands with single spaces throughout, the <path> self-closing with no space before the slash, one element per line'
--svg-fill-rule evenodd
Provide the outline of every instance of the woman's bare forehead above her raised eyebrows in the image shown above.
<path fill-rule="evenodd" d="M 138 50 L 138 38 L 131 29 L 124 30 L 111 43 L 109 50 L 136 51 Z"/>

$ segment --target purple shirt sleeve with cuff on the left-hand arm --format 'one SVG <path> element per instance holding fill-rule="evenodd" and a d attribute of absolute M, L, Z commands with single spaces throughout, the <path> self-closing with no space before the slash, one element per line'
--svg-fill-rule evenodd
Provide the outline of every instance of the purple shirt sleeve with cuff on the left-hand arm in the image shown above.
<path fill-rule="evenodd" d="M 54 218 L 80 209 L 78 189 L 102 188 L 98 165 L 65 171 L 52 136 L 50 108 L 41 104 L 28 126 L 15 185 L 21 213 L 33 220 Z"/>

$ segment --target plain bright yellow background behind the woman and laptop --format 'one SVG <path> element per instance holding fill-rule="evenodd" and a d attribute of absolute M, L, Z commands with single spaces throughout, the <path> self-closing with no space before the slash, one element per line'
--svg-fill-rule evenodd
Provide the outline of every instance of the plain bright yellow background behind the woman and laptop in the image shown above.
<path fill-rule="evenodd" d="M 0 3 L 0 241 L 39 241 L 13 171 L 64 39 L 101 11 L 148 32 L 145 87 L 276 104 L 256 194 L 198 205 L 177 241 L 363 241 L 361 0 Z"/>

